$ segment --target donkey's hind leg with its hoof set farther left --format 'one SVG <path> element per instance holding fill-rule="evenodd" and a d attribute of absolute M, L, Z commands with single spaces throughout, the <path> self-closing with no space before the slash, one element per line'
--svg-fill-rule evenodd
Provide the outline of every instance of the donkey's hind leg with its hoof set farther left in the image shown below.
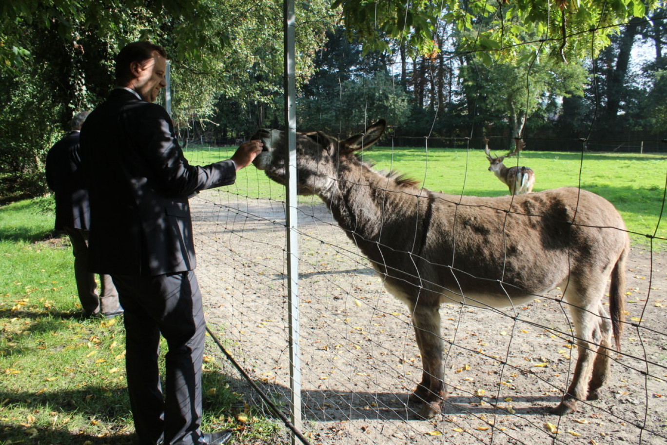
<path fill-rule="evenodd" d="M 572 321 L 577 336 L 577 362 L 574 366 L 574 374 L 572 375 L 572 383 L 568 388 L 567 393 L 563 397 L 562 402 L 551 410 L 552 414 L 570 414 L 576 409 L 578 400 L 586 400 L 588 397 L 588 386 L 592 376 L 594 362 L 597 356 L 597 350 L 600 347 L 600 316 L 598 314 L 598 305 L 600 297 L 590 298 L 589 292 L 586 290 L 580 294 L 580 298 L 572 298 L 575 294 L 572 283 L 569 285 L 570 290 L 566 293 L 565 298 L 568 300 L 570 306 L 570 314 L 572 314 Z M 569 294 L 569 296 L 568 296 Z M 588 294 L 588 296 L 586 295 Z M 602 295 L 602 294 L 600 294 Z M 594 301 L 592 301 L 594 300 Z"/>

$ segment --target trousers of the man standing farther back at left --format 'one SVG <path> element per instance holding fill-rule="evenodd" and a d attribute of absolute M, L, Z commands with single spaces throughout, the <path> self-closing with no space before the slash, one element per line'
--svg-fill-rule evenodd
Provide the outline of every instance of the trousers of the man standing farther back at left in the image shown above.
<path fill-rule="evenodd" d="M 99 276 L 99 295 L 95 274 L 88 272 L 88 236 L 89 232 L 83 229 L 65 227 L 65 233 L 69 236 L 74 254 L 74 278 L 77 282 L 77 293 L 81 308 L 86 316 L 99 312 L 109 314 L 119 310 L 118 292 L 113 286 L 111 276 Z"/>

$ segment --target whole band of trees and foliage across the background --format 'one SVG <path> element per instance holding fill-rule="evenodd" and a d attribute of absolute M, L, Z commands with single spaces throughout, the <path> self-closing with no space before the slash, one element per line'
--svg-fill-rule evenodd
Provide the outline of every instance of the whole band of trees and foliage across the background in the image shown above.
<path fill-rule="evenodd" d="M 278 125 L 282 5 L 4 0 L 0 191 L 44 189 L 47 149 L 74 113 L 106 97 L 113 57 L 130 41 L 167 49 L 172 116 L 183 134 L 233 141 L 257 125 Z M 301 127 L 347 132 L 385 117 L 403 135 L 418 137 L 471 135 L 491 122 L 518 134 L 527 119 L 555 120 L 554 129 L 572 133 L 593 119 L 614 129 L 658 129 L 667 31 L 656 5 L 662 3 L 297 0 L 297 119 Z M 646 14 L 651 21 L 632 19 Z M 341 22 L 344 31 L 327 35 Z M 655 42 L 646 91 L 621 75 L 635 36 Z M 392 51 L 400 66 L 392 66 Z M 583 66 L 593 67 L 594 82 L 581 98 Z"/>

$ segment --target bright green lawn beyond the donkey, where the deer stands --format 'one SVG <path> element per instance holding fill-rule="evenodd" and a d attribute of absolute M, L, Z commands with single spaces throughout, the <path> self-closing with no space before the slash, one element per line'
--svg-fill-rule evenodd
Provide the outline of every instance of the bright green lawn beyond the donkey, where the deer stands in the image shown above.
<path fill-rule="evenodd" d="M 205 164 L 227 159 L 234 147 L 215 149 L 195 147 L 186 155 L 193 163 Z M 507 195 L 506 185 L 488 171 L 488 161 L 480 149 L 426 149 L 373 147 L 362 153 L 376 169 L 393 169 L 424 187 L 444 193 L 500 196 Z M 509 158 L 506 165 L 516 165 Z M 660 215 L 667 179 L 667 157 L 656 154 L 632 153 L 561 153 L 522 151 L 520 165 L 535 171 L 534 191 L 575 186 L 598 193 L 608 199 L 621 213 L 633 244 L 648 248 L 646 236 L 667 238 L 667 221 Z M 284 199 L 283 187 L 269 181 L 261 171 L 248 167 L 239 172 L 234 185 L 227 191 L 241 197 Z M 311 202 L 300 198 L 299 202 Z M 658 224 L 660 223 L 660 224 Z M 654 240 L 653 248 L 667 248 L 663 240 Z"/>

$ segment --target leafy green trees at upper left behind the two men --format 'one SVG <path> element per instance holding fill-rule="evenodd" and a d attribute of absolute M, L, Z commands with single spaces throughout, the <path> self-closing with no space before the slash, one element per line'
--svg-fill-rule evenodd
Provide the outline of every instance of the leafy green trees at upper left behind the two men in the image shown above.
<path fill-rule="evenodd" d="M 181 128 L 193 117 L 212 115 L 221 95 L 238 103 L 272 101 L 281 85 L 281 5 L 275 0 L 5 0 L 0 181 L 20 178 L 23 187 L 29 180 L 31 189 L 43 188 L 47 149 L 73 114 L 106 97 L 113 57 L 131 41 L 150 40 L 167 50 L 173 118 Z M 323 0 L 303 2 L 298 11 L 297 66 L 307 79 L 311 55 L 338 17 Z"/>

